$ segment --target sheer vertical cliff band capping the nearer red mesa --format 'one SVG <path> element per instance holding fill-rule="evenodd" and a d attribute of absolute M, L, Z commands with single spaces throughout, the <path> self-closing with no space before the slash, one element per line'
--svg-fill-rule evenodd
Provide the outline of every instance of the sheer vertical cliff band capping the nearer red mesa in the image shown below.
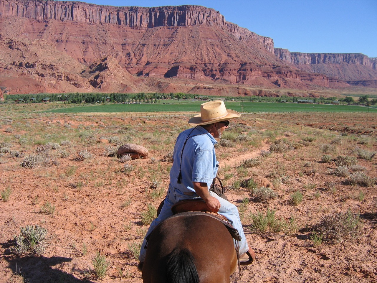
<path fill-rule="evenodd" d="M 78 23 L 110 23 L 130 28 L 158 26 L 218 26 L 241 41 L 254 39 L 269 52 L 274 52 L 272 38 L 257 35 L 225 21 L 218 11 L 203 6 L 113 7 L 70 1 L 1 0 L 1 17 L 34 20 L 61 20 Z"/>

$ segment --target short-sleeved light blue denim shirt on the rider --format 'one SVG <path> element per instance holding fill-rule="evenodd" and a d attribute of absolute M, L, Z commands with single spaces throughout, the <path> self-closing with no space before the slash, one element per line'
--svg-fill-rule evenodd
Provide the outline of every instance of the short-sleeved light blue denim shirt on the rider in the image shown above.
<path fill-rule="evenodd" d="M 219 166 L 214 148 L 216 143 L 215 138 L 201 126 L 181 132 L 174 146 L 170 186 L 181 192 L 195 192 L 192 182 L 201 182 L 207 183 L 209 189 Z M 180 184 L 179 168 L 182 175 Z"/>

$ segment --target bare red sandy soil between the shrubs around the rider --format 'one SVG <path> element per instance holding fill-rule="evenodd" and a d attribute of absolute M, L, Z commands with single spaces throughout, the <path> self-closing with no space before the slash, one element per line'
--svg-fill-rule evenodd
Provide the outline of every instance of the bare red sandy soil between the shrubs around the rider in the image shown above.
<path fill-rule="evenodd" d="M 356 145 L 377 151 L 375 114 L 326 115 L 328 116 L 270 114 L 242 117 L 235 120 L 228 131 L 232 131 L 232 127 L 243 127 L 244 133 L 276 130 L 280 138 L 287 140 L 300 140 L 302 136 L 313 133 L 343 137 L 347 141 L 354 137 L 354 143 L 350 141 L 349 145 L 343 143 L 340 146 L 348 151 L 338 152 L 338 155 L 348 154 L 350 148 Z M 176 125 L 188 127 L 186 121 L 187 117 L 184 116 L 150 119 L 106 116 L 96 120 L 86 116 L 75 119 L 72 116 L 64 117 L 63 114 L 55 117 L 44 117 L 41 114 L 25 118 L 25 123 L 33 127 L 44 125 L 46 132 L 52 127 L 61 127 L 61 131 L 65 131 L 63 125 L 67 123 L 73 129 L 81 125 L 78 132 L 83 131 L 83 127 L 90 126 L 92 129 L 99 129 L 94 135 L 96 138 L 100 137 L 101 131 L 117 135 L 115 130 L 119 127 L 112 131 L 109 129 L 112 129 L 111 125 L 120 123 L 135 128 L 136 131 L 149 131 L 152 134 L 155 130 L 170 131 L 168 129 L 173 129 Z M 15 134 L 24 134 L 7 133 L 7 128 L 9 125 L 0 125 L 0 137 L 3 140 L 8 137 L 14 141 L 12 137 Z M 71 154 L 67 158 L 58 158 L 56 164 L 35 169 L 19 166 L 22 158 L 3 155 L 0 162 L 0 191 L 11 188 L 12 193 L 9 201 L 0 201 L 0 282 L 22 282 L 25 279 L 25 282 L 30 283 L 141 283 L 141 272 L 136 268 L 138 260 L 130 252 L 130 246 L 141 242 L 148 227 L 141 222 L 141 213 L 147 210 L 148 204 L 157 207 L 163 198 L 153 198 L 150 195 L 150 185 L 153 174 L 158 174 L 163 178 L 161 187 L 167 188 L 170 165 L 163 161 L 163 157 L 172 150 L 178 132 L 172 134 L 171 143 L 163 150 L 153 146 L 150 138 L 139 140 L 141 145 L 149 149 L 149 158 L 129 161 L 129 164 L 137 168 L 130 175 L 119 172 L 123 163 L 117 158 L 104 156 L 104 146 L 101 144 L 84 145 L 74 142 L 70 146 L 72 152 L 86 148 L 94 155 L 90 161 L 75 161 L 75 154 Z M 348 136 L 340 136 L 342 132 L 346 132 Z M 299 136 L 302 133 L 305 134 Z M 357 144 L 356 140 L 360 138 L 369 139 L 369 143 Z M 257 146 L 245 146 L 244 143 L 234 148 L 220 146 L 216 149 L 220 168 L 230 166 L 235 179 L 238 174 L 236 168 L 242 161 L 259 156 L 261 150 L 268 150 L 270 144 L 271 140 L 264 138 Z M 14 149 L 20 146 L 15 141 L 13 145 Z M 323 153 L 319 152 L 318 146 L 317 143 L 294 151 L 274 153 L 261 166 L 249 169 L 247 178 L 258 175 L 271 180 L 269 176 L 275 171 L 284 172 L 290 177 L 289 181 L 274 188 L 278 197 L 268 203 L 253 201 L 246 188 L 230 190 L 233 179 L 224 182 L 227 197 L 232 203 L 240 206 L 243 199 L 249 200 L 242 221 L 247 241 L 256 252 L 256 261 L 253 265 L 242 267 L 242 282 L 377 282 L 376 185 L 351 186 L 344 178 L 327 174 L 329 168 L 336 166 L 334 163 L 320 162 Z M 26 147 L 25 155 L 35 152 L 36 148 L 37 145 Z M 333 156 L 336 157 L 336 154 Z M 158 160 L 159 167 L 152 163 L 152 158 Z M 357 162 L 367 168 L 369 176 L 377 176 L 376 159 L 366 161 L 358 158 Z M 311 164 L 311 167 L 305 167 L 304 164 Z M 72 166 L 75 166 L 75 172 L 69 176 L 67 172 Z M 159 170 L 157 173 L 156 168 Z M 314 174 L 313 169 L 317 174 Z M 224 174 L 220 174 L 220 177 L 224 179 Z M 78 187 L 80 181 L 82 183 Z M 326 181 L 337 181 L 335 193 L 326 191 Z M 314 184 L 316 189 L 305 189 L 305 184 Z M 290 195 L 297 190 L 303 193 L 304 200 L 293 206 Z M 365 195 L 362 201 L 352 197 L 359 191 Z M 319 198 L 313 197 L 315 192 L 320 193 Z M 46 201 L 55 205 L 54 214 L 40 212 Z M 129 205 L 124 205 L 128 201 Z M 267 207 L 276 210 L 277 217 L 285 221 L 293 217 L 299 229 L 291 235 L 253 231 L 248 215 L 257 211 L 265 212 Z M 322 245 L 314 247 L 310 233 L 321 217 L 348 209 L 360 214 L 363 225 L 361 234 L 356 238 L 346 238 L 341 243 L 323 241 Z M 48 246 L 43 255 L 15 257 L 10 254 L 8 248 L 15 244 L 14 235 L 18 235 L 20 227 L 26 225 L 40 225 L 48 229 Z M 96 252 L 105 256 L 109 263 L 107 275 L 103 279 L 95 278 L 90 272 Z M 238 272 L 231 276 L 230 282 L 239 282 Z"/>

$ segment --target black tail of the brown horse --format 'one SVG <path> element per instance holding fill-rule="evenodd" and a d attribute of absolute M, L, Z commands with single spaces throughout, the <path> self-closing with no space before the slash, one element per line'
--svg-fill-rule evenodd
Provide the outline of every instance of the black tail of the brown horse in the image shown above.
<path fill-rule="evenodd" d="M 167 283 L 199 283 L 195 259 L 188 249 L 178 249 L 170 254 L 167 263 Z"/>

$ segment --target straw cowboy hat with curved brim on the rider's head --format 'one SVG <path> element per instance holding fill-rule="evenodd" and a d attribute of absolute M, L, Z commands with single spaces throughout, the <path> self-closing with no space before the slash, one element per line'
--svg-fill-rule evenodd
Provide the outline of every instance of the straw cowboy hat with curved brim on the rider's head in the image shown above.
<path fill-rule="evenodd" d="M 200 106 L 200 114 L 189 120 L 190 125 L 208 125 L 241 117 L 239 112 L 226 109 L 224 101 L 215 100 L 205 102 Z"/>

